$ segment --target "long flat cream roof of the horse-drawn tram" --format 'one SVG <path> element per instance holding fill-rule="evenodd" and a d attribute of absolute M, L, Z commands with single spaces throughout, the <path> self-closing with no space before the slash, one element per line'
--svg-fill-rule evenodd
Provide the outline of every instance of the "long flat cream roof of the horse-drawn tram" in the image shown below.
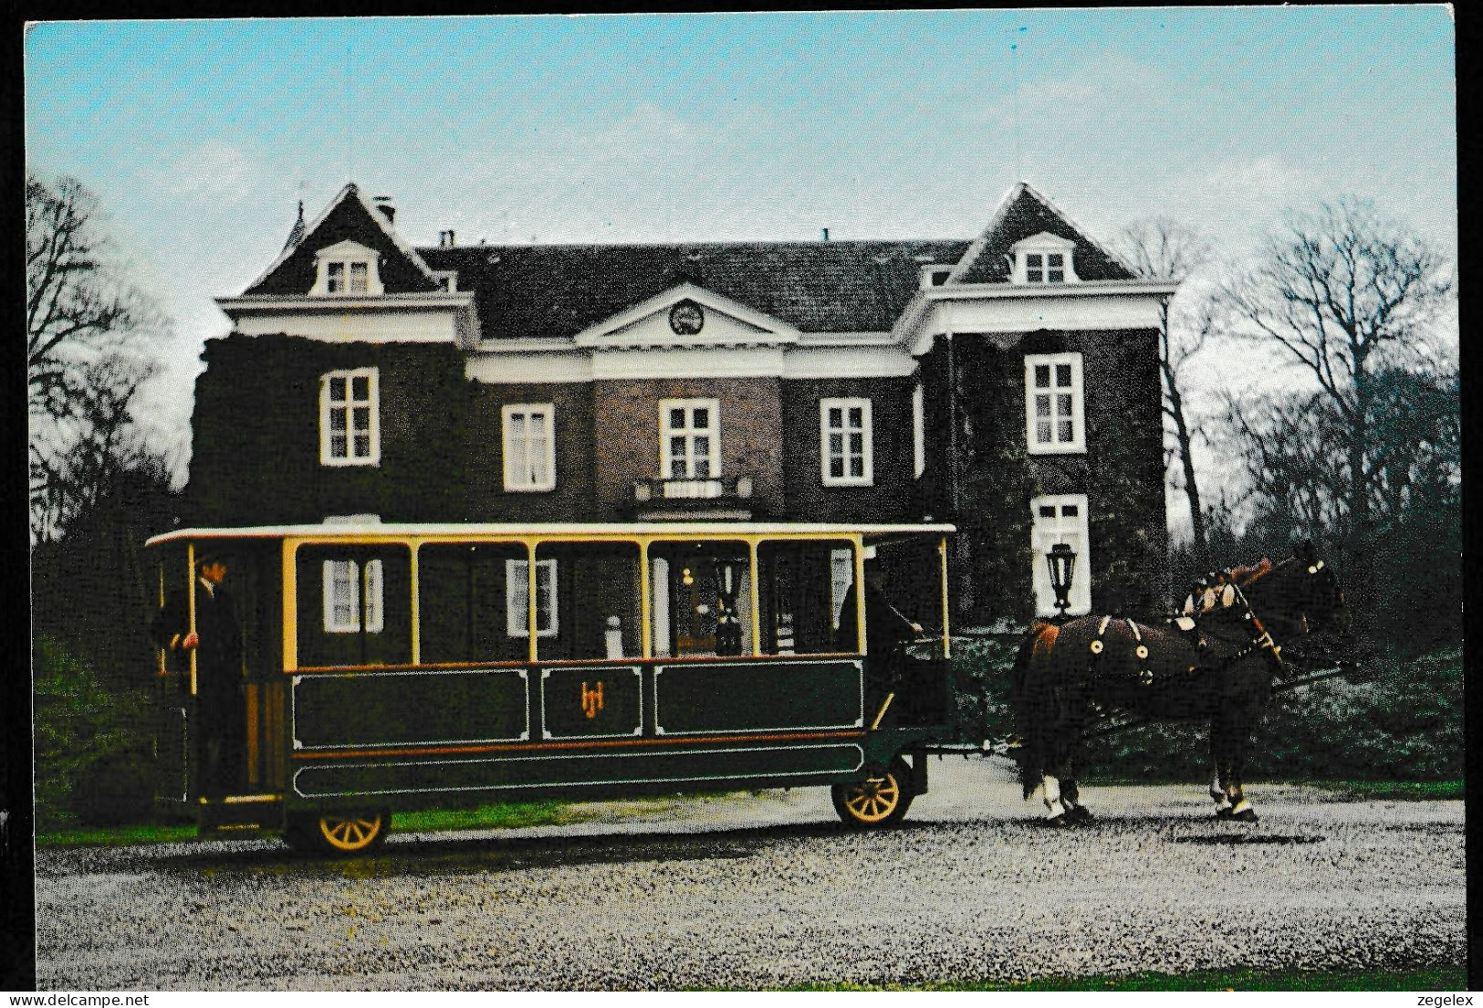
<path fill-rule="evenodd" d="M 176 528 L 151 536 L 147 546 L 200 539 L 614 539 L 661 537 L 747 537 L 747 536 L 862 536 L 866 543 L 912 536 L 945 536 L 957 527 L 943 523 L 850 524 L 819 521 L 607 521 L 607 523 L 328 523 L 314 526 L 251 526 L 237 528 Z"/>

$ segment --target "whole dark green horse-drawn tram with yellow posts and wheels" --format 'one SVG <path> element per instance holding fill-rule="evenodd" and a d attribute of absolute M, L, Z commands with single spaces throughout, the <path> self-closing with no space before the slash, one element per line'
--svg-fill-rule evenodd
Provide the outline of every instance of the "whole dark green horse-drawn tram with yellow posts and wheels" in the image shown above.
<path fill-rule="evenodd" d="M 492 799 L 823 785 L 845 822 L 893 822 L 952 733 L 952 531 L 350 520 L 156 536 L 160 794 L 203 831 L 340 852 L 381 842 L 392 809 Z M 881 653 L 921 626 L 927 658 Z"/>

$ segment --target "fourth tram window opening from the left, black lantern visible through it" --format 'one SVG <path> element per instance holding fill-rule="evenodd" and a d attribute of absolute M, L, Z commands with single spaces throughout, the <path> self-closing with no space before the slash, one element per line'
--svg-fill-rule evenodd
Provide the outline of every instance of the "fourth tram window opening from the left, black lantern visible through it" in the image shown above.
<path fill-rule="evenodd" d="M 746 543 L 653 543 L 650 580 L 655 656 L 752 653 L 752 572 Z"/>

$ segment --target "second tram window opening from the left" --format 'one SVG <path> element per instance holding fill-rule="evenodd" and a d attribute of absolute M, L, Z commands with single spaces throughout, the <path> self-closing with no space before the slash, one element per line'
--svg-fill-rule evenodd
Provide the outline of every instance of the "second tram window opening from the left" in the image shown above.
<path fill-rule="evenodd" d="M 421 661 L 528 661 L 525 626 L 522 624 L 516 634 L 509 615 L 510 570 L 518 566 L 523 600 L 526 558 L 528 552 L 521 543 L 423 546 L 417 552 Z"/>

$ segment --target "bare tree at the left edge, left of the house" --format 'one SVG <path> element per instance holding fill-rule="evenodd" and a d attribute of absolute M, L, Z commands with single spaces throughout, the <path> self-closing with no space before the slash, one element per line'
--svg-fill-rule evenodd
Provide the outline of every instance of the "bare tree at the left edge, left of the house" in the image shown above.
<path fill-rule="evenodd" d="M 56 536 L 147 451 L 131 407 L 162 325 L 113 264 L 96 197 L 73 178 L 25 180 L 27 414 L 34 537 Z"/>

